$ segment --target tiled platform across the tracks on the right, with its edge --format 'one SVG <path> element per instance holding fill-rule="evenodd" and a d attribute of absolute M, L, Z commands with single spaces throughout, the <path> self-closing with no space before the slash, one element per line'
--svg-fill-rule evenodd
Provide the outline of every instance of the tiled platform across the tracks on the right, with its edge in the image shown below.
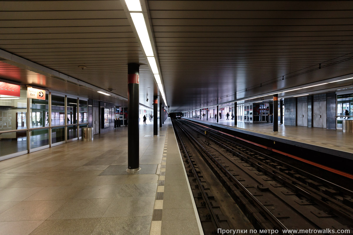
<path fill-rule="evenodd" d="M 236 129 L 237 131 L 246 134 L 266 137 L 275 141 L 292 143 L 296 146 L 306 148 L 316 147 L 322 151 L 331 151 L 331 149 L 333 149 L 341 151 L 342 156 L 344 155 L 349 159 L 353 159 L 353 134 L 342 132 L 342 130 L 279 124 L 278 132 L 273 132 L 273 123 L 248 123 L 238 121 L 237 126 L 234 126 L 234 120 L 219 119 L 219 123 L 217 123 L 214 118 L 209 118 L 208 120 L 206 120 L 206 118 L 183 118 L 201 123 L 211 123 L 211 125 L 222 126 L 231 130 Z"/>

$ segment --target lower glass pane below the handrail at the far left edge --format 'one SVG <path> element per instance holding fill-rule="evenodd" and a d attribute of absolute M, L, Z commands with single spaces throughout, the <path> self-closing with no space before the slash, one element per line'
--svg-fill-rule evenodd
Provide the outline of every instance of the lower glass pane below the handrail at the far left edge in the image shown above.
<path fill-rule="evenodd" d="M 27 150 L 27 131 L 2 133 L 0 135 L 0 156 Z"/>

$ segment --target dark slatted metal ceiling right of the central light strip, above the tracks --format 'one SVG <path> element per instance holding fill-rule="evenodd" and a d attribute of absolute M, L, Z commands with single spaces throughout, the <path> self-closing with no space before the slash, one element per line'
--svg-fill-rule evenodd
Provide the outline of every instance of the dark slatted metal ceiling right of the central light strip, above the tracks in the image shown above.
<path fill-rule="evenodd" d="M 353 73 L 352 1 L 147 2 L 172 112 Z"/>

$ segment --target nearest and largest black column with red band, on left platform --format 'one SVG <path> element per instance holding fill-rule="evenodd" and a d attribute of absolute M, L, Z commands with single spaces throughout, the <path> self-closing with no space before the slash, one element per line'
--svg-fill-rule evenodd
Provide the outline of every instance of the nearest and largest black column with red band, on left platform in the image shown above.
<path fill-rule="evenodd" d="M 127 171 L 138 171 L 139 168 L 139 134 L 138 134 L 138 93 L 139 64 L 127 64 Z"/>

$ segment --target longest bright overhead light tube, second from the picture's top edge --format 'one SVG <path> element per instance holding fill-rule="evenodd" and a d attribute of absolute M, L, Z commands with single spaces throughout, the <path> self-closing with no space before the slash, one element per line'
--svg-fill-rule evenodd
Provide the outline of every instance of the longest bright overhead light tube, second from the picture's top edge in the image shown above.
<path fill-rule="evenodd" d="M 150 37 L 148 35 L 145 18 L 142 13 L 130 13 L 133 24 L 137 30 L 138 37 L 142 43 L 146 56 L 154 56 Z"/>

